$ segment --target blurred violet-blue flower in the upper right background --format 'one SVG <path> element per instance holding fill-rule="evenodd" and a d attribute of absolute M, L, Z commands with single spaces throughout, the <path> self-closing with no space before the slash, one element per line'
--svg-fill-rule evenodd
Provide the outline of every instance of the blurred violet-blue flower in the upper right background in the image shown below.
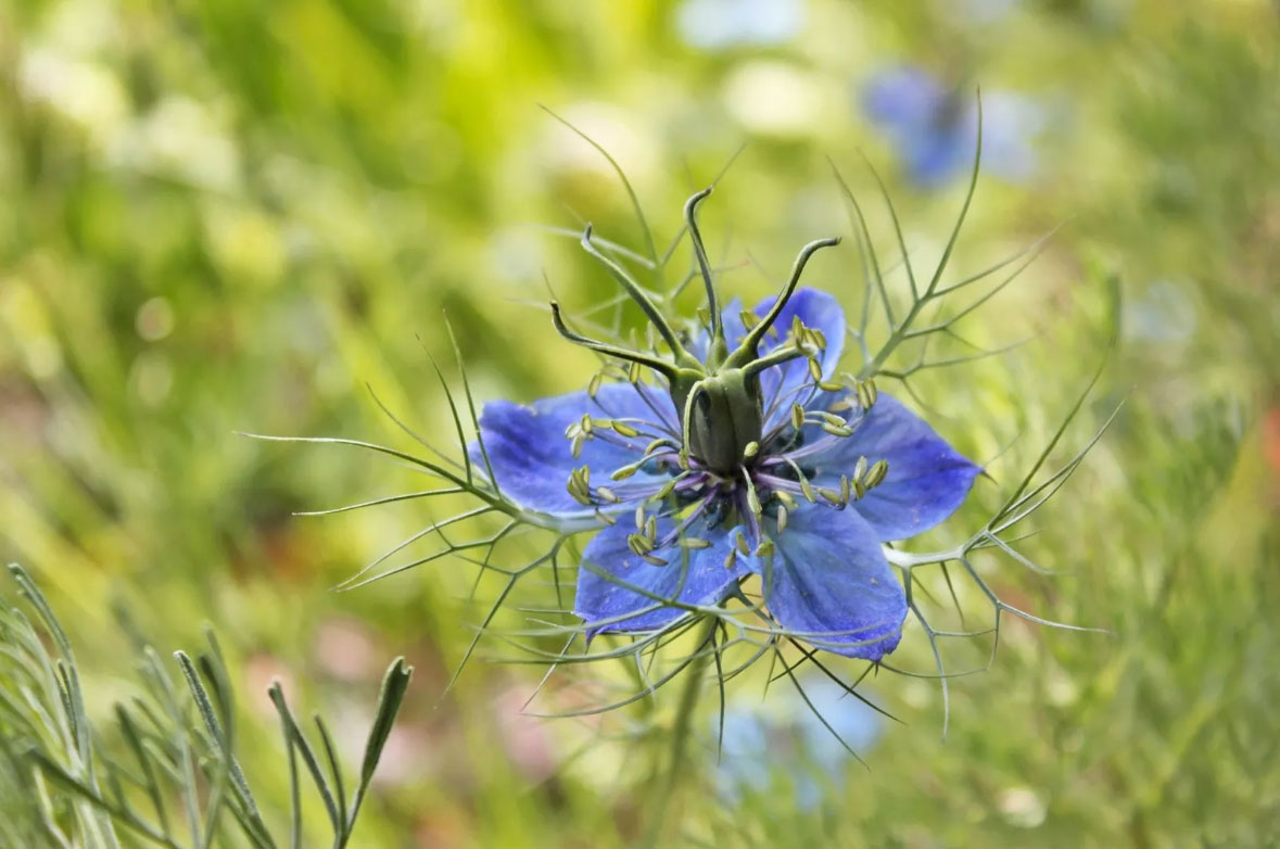
<path fill-rule="evenodd" d="M 863 109 L 897 149 L 908 177 L 940 188 L 966 174 L 978 138 L 978 104 L 923 68 L 882 70 L 863 86 Z M 1034 140 L 1044 110 L 1030 97 L 983 92 L 983 170 L 1011 182 L 1036 170 Z"/>

